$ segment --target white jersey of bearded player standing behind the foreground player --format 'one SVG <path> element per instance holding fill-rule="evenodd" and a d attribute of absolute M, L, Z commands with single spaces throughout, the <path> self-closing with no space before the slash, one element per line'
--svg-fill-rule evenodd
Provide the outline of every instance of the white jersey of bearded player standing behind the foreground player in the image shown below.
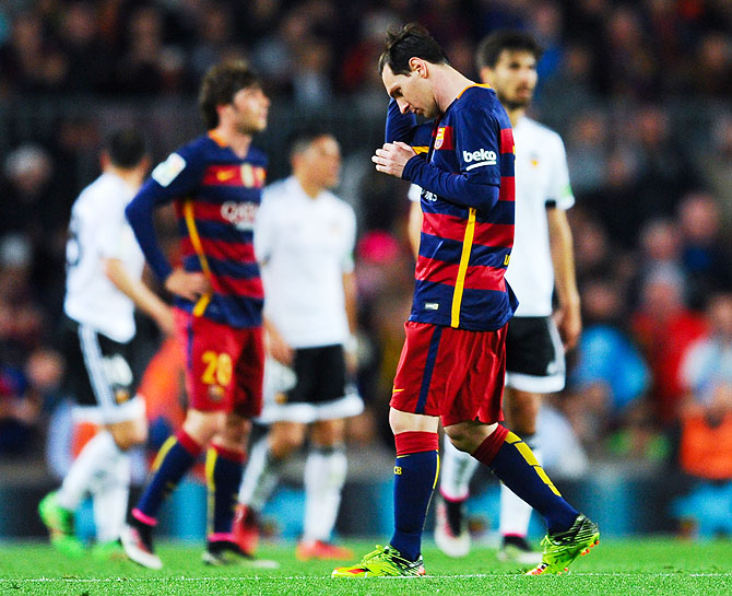
<path fill-rule="evenodd" d="M 562 138 L 531 118 L 513 127 L 516 143 L 516 230 L 506 279 L 519 299 L 516 316 L 552 314 L 554 266 L 550 248 L 546 203 L 569 209 L 569 186 Z"/>

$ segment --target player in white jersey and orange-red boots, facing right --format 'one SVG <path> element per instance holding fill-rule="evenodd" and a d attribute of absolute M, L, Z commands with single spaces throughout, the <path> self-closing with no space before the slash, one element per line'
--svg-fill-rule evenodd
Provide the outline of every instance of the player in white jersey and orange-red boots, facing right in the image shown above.
<path fill-rule="evenodd" d="M 309 431 L 296 554 L 347 559 L 353 553 L 333 545 L 331 533 L 346 476 L 344 419 L 363 410 L 347 383 L 355 372 L 356 220 L 351 206 L 328 190 L 338 184 L 341 165 L 332 136 L 296 135 L 291 163 L 293 175 L 264 189 L 255 229 L 270 353 L 260 422 L 271 426 L 251 449 L 234 531 L 243 550 L 252 553 L 258 517 L 279 470 Z"/>

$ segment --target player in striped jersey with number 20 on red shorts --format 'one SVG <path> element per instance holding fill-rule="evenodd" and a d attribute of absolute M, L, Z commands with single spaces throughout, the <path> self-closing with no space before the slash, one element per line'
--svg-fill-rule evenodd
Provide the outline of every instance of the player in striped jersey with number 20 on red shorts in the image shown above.
<path fill-rule="evenodd" d="M 243 557 L 232 521 L 249 419 L 262 406 L 264 296 L 253 224 L 267 159 L 251 140 L 267 127 L 270 101 L 246 62 L 228 62 L 209 70 L 199 102 L 209 132 L 160 164 L 126 211 L 147 262 L 175 296 L 189 397 L 186 421 L 161 448 L 122 535 L 128 556 L 151 569 L 162 566 L 152 545 L 160 507 L 206 447 L 211 511 L 203 560 Z M 169 202 L 184 257 L 175 269 L 153 226 L 154 210 Z"/>

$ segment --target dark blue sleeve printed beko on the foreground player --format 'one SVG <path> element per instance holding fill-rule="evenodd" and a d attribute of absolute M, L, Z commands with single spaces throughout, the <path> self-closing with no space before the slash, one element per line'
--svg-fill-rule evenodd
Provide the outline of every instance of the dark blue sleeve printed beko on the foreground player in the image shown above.
<path fill-rule="evenodd" d="M 461 207 L 489 211 L 498 200 L 500 187 L 500 130 L 496 119 L 480 105 L 456 113 L 454 152 L 459 172 L 444 172 L 414 156 L 402 178 L 417 184 L 440 198 Z"/>

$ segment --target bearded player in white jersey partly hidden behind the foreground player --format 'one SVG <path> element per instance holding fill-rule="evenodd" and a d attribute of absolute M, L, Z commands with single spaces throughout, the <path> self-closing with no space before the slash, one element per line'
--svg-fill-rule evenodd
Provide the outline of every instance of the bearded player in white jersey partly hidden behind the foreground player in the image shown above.
<path fill-rule="evenodd" d="M 565 213 L 575 198 L 564 143 L 556 132 L 526 116 L 541 54 L 530 35 L 510 31 L 491 34 L 477 50 L 481 79 L 495 89 L 506 108 L 516 143 L 516 231 L 506 279 L 519 299 L 519 307 L 506 338 L 505 413 L 507 425 L 523 439 L 540 463 L 536 418 L 541 396 L 564 388 L 564 351 L 576 344 L 581 330 L 572 238 Z M 413 244 L 418 243 L 421 217 L 418 202 L 413 202 Z M 558 308 L 553 311 L 555 284 Z M 464 557 L 470 550 L 464 502 L 476 468 L 476 459 L 446 442 L 435 541 L 451 557 Z M 526 539 L 530 516 L 531 507 L 501 484 L 501 560 L 521 564 L 541 561 L 541 553 L 533 552 Z"/>

